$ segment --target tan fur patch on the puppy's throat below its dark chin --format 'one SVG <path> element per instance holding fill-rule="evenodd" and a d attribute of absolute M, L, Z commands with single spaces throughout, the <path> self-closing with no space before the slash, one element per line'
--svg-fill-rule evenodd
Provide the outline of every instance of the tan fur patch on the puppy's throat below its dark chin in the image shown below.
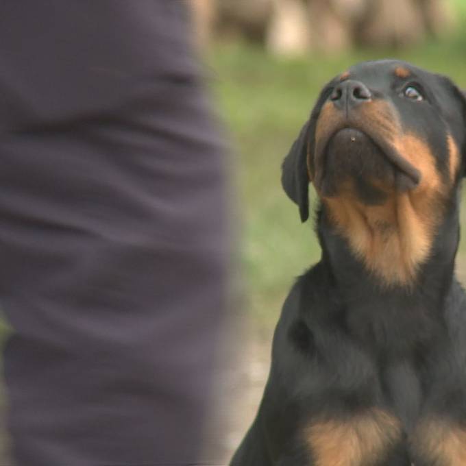
<path fill-rule="evenodd" d="M 322 210 L 328 229 L 341 236 L 352 256 L 380 286 L 413 289 L 419 284 L 421 269 L 438 258 L 436 247 L 449 261 L 456 254 L 458 214 L 447 199 L 426 190 L 392 193 L 383 204 L 368 205 L 345 193 L 323 199 Z M 450 250 L 436 244 L 436 239 L 443 223 L 452 226 L 452 222 L 456 225 L 446 232 L 449 238 L 441 235 L 443 242 L 455 246 Z"/>

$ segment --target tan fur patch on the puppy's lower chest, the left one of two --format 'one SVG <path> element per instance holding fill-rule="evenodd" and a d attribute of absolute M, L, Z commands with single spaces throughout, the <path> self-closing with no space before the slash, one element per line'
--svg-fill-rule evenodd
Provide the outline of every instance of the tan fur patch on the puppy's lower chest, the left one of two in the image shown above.
<path fill-rule="evenodd" d="M 317 422 L 306 430 L 316 466 L 375 466 L 400 438 L 399 421 L 378 409 L 346 421 Z"/>

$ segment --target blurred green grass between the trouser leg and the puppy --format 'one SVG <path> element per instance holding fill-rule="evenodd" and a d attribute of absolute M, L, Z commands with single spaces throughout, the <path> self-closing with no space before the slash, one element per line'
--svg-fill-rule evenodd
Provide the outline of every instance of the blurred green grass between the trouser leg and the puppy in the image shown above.
<path fill-rule="evenodd" d="M 319 90 L 352 64 L 380 58 L 412 62 L 449 75 L 466 88 L 466 5 L 455 1 L 463 7 L 461 34 L 397 51 L 396 56 L 390 50 L 365 49 L 339 56 L 284 59 L 241 42 L 220 44 L 210 51 L 212 87 L 236 162 L 246 309 L 266 327 L 276 321 L 294 277 L 320 256 L 312 221 L 300 223 L 297 206 L 280 184 L 282 159 Z M 311 203 L 315 204 L 312 193 Z M 465 245 L 461 249 L 466 253 Z"/>

